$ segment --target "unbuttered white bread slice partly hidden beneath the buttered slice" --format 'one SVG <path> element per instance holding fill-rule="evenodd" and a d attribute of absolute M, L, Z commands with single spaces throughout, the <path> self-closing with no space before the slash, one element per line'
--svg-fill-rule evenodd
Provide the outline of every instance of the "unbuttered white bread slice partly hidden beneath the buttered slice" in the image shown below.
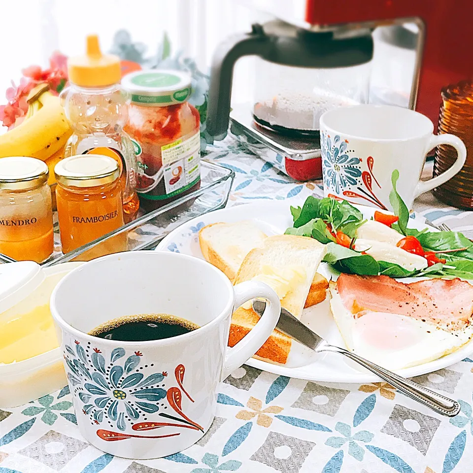
<path fill-rule="evenodd" d="M 217 222 L 201 229 L 199 243 L 205 260 L 233 281 L 244 257 L 253 248 L 263 246 L 266 237 L 250 220 Z M 327 279 L 316 273 L 305 307 L 324 301 L 328 286 Z"/>

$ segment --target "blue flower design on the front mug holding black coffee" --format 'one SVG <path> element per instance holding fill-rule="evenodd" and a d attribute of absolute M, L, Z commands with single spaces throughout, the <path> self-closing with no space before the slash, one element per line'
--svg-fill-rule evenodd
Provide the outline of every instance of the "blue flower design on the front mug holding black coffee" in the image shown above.
<path fill-rule="evenodd" d="M 168 375 L 167 372 L 154 372 L 144 377 L 136 370 L 142 356 L 139 351 L 125 357 L 124 348 L 114 348 L 107 363 L 101 350 L 94 348 L 87 353 L 89 350 L 76 340 L 75 351 L 66 345 L 64 358 L 69 382 L 77 386 L 75 394 L 83 403 L 82 412 L 92 422 L 100 424 L 106 417 L 124 431 L 128 421 L 134 422 L 142 414 L 159 410 L 158 401 L 166 398 L 167 389 L 158 383 Z"/>

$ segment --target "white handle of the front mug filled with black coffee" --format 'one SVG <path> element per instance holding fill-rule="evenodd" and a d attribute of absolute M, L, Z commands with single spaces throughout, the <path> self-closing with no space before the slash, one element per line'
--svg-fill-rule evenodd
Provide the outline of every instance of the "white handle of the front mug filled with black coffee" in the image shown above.
<path fill-rule="evenodd" d="M 227 350 L 222 368 L 222 381 L 248 361 L 261 348 L 263 343 L 270 338 L 281 313 L 279 298 L 267 284 L 257 281 L 246 281 L 237 284 L 233 289 L 235 291 L 235 308 L 257 297 L 266 299 L 268 304 L 266 304 L 263 315 L 250 330 L 250 333 L 236 343 L 233 348 Z"/>

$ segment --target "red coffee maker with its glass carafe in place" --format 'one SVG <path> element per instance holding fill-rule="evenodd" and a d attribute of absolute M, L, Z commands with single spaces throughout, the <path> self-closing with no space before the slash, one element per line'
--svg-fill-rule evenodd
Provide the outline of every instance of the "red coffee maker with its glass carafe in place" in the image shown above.
<path fill-rule="evenodd" d="M 414 25 L 414 67 L 405 105 L 439 116 L 442 87 L 473 77 L 468 60 L 473 36 L 469 0 L 251 0 L 275 20 L 215 51 L 206 132 L 215 139 L 231 133 L 251 151 L 298 180 L 321 176 L 318 117 L 326 109 L 369 103 L 372 31 L 390 27 L 406 34 Z M 407 31 L 407 35 L 409 32 Z M 402 36 L 402 35 L 401 35 Z M 256 95 L 232 104 L 233 67 L 242 56 L 257 56 Z M 265 95 L 266 94 L 266 95 Z M 305 108 L 304 108 L 305 105 Z"/>

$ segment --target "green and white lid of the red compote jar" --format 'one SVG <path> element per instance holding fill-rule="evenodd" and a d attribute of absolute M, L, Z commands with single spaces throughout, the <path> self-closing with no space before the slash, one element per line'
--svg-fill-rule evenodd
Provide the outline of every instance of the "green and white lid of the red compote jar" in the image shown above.
<path fill-rule="evenodd" d="M 191 75 L 182 70 L 140 70 L 127 74 L 122 86 L 132 102 L 148 106 L 182 103 L 191 95 Z"/>

